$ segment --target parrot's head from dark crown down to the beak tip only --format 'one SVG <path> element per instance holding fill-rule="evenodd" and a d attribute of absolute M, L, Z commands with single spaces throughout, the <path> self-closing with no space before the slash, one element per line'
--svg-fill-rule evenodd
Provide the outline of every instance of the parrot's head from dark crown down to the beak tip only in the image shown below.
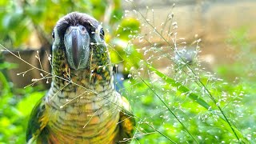
<path fill-rule="evenodd" d="M 108 59 L 103 28 L 88 14 L 73 12 L 59 19 L 52 37 L 56 65 L 66 61 L 71 70 L 81 70 Z"/>

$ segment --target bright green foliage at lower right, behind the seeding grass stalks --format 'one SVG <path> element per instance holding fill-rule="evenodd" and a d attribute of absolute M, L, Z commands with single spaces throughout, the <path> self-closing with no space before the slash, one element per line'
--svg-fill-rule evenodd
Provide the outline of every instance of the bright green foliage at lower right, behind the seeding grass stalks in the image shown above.
<path fill-rule="evenodd" d="M 234 32 L 238 35 L 230 40 L 239 55 L 247 56 L 237 59 L 234 65 L 225 66 L 226 70 L 237 70 L 238 74 L 232 71 L 238 77 L 234 82 L 224 80 L 230 78 L 226 71 L 218 71 L 218 75 L 224 76 L 221 79 L 197 69 L 190 70 L 186 64 L 185 70 L 163 74 L 144 60 L 150 79 L 143 80 L 135 71 L 134 78 L 126 81 L 124 93 L 138 116 L 138 142 L 168 143 L 169 138 L 178 143 L 255 142 L 256 114 L 252 102 L 255 74 L 250 75 L 255 69 L 244 65 L 245 61 L 252 64 L 255 61 L 254 54 L 250 54 L 251 42 L 244 33 L 245 30 Z"/>

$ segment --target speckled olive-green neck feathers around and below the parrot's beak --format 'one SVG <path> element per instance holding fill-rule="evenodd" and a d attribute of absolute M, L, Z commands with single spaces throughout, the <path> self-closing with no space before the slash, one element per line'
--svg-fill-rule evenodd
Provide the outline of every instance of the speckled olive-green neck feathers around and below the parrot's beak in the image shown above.
<path fill-rule="evenodd" d="M 113 72 L 107 50 L 92 48 L 88 67 L 81 70 L 70 69 L 63 50 L 53 51 L 52 59 L 52 86 L 63 90 L 76 90 L 79 86 L 90 87 L 113 84 Z M 64 87 L 64 88 L 63 88 Z"/>

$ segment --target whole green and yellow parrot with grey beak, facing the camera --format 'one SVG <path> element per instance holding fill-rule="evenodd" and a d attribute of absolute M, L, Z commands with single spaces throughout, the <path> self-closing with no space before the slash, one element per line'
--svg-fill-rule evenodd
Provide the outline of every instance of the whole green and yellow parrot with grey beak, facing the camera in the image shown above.
<path fill-rule="evenodd" d="M 73 12 L 53 32 L 52 83 L 31 113 L 28 143 L 119 143 L 133 137 L 130 105 L 114 90 L 100 23 Z"/>

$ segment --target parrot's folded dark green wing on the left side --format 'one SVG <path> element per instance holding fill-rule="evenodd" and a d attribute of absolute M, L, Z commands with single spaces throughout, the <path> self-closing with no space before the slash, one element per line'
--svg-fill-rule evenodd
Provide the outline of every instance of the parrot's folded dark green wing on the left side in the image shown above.
<path fill-rule="evenodd" d="M 30 120 L 28 123 L 28 127 L 26 130 L 26 142 L 27 143 L 36 143 L 38 139 L 42 139 L 43 141 L 47 141 L 47 130 L 46 125 L 48 122 L 48 118 L 46 115 L 46 105 L 41 98 L 34 109 L 31 112 Z M 47 143 L 47 142 L 46 142 Z"/>

